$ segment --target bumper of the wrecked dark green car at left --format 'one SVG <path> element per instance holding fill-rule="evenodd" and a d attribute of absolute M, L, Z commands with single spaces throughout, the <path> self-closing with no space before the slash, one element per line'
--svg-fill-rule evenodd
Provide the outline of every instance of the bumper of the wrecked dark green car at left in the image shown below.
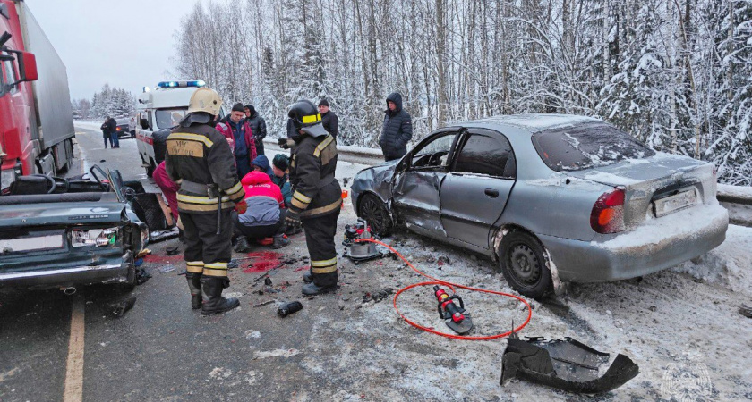
<path fill-rule="evenodd" d="M 67 266 L 25 272 L 0 272 L 0 288 L 65 288 L 132 282 L 135 268 L 130 251 L 121 264 Z"/>

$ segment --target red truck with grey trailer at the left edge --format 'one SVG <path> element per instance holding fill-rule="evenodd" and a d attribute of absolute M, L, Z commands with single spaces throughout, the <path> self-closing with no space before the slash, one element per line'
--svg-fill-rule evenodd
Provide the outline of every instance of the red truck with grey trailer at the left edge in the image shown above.
<path fill-rule="evenodd" d="M 6 192 L 17 176 L 67 169 L 75 136 L 65 66 L 19 0 L 0 0 L 0 72 L 0 192 Z"/>

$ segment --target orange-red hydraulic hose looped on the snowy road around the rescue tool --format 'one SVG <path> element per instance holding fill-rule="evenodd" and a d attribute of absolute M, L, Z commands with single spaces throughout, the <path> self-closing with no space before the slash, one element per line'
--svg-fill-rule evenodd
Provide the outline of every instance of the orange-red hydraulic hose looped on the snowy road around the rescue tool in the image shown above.
<path fill-rule="evenodd" d="M 402 261 L 404 261 L 405 264 L 407 264 L 407 266 L 409 266 L 410 268 L 412 268 L 414 272 L 417 272 L 418 274 L 423 275 L 424 277 L 426 277 L 426 278 L 428 278 L 428 279 L 431 280 L 431 281 L 427 281 L 427 282 L 414 283 L 412 285 L 406 286 L 405 288 L 399 289 L 399 291 L 397 291 L 397 293 L 394 295 L 393 304 L 394 304 L 394 309 L 397 310 L 397 314 L 399 314 L 399 316 L 402 317 L 402 319 L 405 320 L 405 322 L 407 322 L 408 324 L 414 326 L 415 328 L 421 329 L 421 330 L 426 331 L 426 332 L 431 332 L 432 334 L 439 335 L 441 337 L 451 338 L 451 339 L 490 340 L 490 339 L 498 339 L 498 338 L 508 337 L 513 332 L 517 332 L 517 331 L 522 330 L 527 325 L 527 322 L 530 322 L 530 319 L 533 317 L 533 309 L 530 307 L 530 304 L 527 303 L 527 301 L 524 298 L 522 298 L 522 297 L 519 297 L 519 296 L 516 296 L 516 295 L 512 295 L 512 294 L 509 294 L 509 293 L 504 293 L 504 292 L 496 291 L 496 290 L 472 288 L 472 287 L 465 286 L 465 285 L 458 285 L 457 283 L 452 283 L 452 282 L 448 282 L 448 281 L 441 281 L 440 279 L 433 278 L 431 275 L 423 273 L 420 270 L 418 270 L 417 268 L 415 268 L 414 265 L 411 264 L 409 261 L 407 261 L 407 259 L 403 255 L 399 254 L 399 252 L 397 250 L 395 250 L 394 248 L 392 248 L 391 246 L 389 246 L 386 243 L 383 243 L 383 242 L 381 242 L 379 240 L 374 240 L 374 239 L 360 239 L 360 240 L 355 240 L 355 241 L 357 241 L 357 242 L 376 243 L 376 244 L 379 244 L 379 245 L 381 245 L 383 247 L 389 248 L 389 250 L 392 253 L 394 253 L 395 255 L 399 256 L 399 258 L 401 258 Z M 421 325 L 419 323 L 416 323 L 416 322 L 413 322 L 410 319 L 406 318 L 405 315 L 403 315 L 402 313 L 400 313 L 399 308 L 397 307 L 397 298 L 399 297 L 399 295 L 402 292 L 404 292 L 407 289 L 413 289 L 413 288 L 417 288 L 419 286 L 430 286 L 430 285 L 445 285 L 445 286 L 449 287 L 449 289 L 452 289 L 452 292 L 455 291 L 455 288 L 460 288 L 460 289 L 473 290 L 473 291 L 476 291 L 476 292 L 491 293 L 492 295 L 499 295 L 499 296 L 506 296 L 506 297 L 516 298 L 517 300 L 525 303 L 525 306 L 527 307 L 527 319 L 525 320 L 525 322 L 522 323 L 522 325 L 518 326 L 517 328 L 513 329 L 512 331 L 507 331 L 507 332 L 496 334 L 496 335 L 478 336 L 478 337 L 466 337 L 466 336 L 462 336 L 462 335 L 452 335 L 452 334 L 449 334 L 449 333 L 443 333 L 443 332 L 440 332 L 440 331 L 435 331 L 432 328 L 424 327 L 423 325 Z"/>

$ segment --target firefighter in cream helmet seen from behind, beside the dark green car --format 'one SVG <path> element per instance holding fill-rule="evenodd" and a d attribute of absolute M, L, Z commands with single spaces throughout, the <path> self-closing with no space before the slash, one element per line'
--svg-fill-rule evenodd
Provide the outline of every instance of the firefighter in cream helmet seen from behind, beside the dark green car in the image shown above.
<path fill-rule="evenodd" d="M 227 263 L 232 257 L 232 209 L 244 214 L 245 192 L 235 170 L 235 157 L 225 137 L 214 129 L 222 99 L 209 88 L 191 96 L 188 113 L 167 137 L 165 161 L 170 179 L 180 183 L 177 208 L 184 226 L 185 278 L 191 306 L 202 315 L 219 314 L 240 305 L 222 297 L 230 285 Z M 178 181 L 181 180 L 181 181 Z"/>

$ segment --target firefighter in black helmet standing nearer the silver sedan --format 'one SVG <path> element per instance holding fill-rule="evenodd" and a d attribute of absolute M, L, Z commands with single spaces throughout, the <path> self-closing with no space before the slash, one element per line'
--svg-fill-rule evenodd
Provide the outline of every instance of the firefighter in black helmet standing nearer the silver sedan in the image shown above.
<path fill-rule="evenodd" d="M 318 295 L 337 289 L 337 250 L 334 235 L 342 204 L 342 189 L 334 178 L 337 143 L 324 130 L 321 115 L 309 101 L 299 101 L 288 113 L 295 124 L 293 138 L 279 140 L 292 147 L 290 183 L 293 197 L 286 220 L 303 222 L 311 270 L 303 275 L 303 295 Z"/>

